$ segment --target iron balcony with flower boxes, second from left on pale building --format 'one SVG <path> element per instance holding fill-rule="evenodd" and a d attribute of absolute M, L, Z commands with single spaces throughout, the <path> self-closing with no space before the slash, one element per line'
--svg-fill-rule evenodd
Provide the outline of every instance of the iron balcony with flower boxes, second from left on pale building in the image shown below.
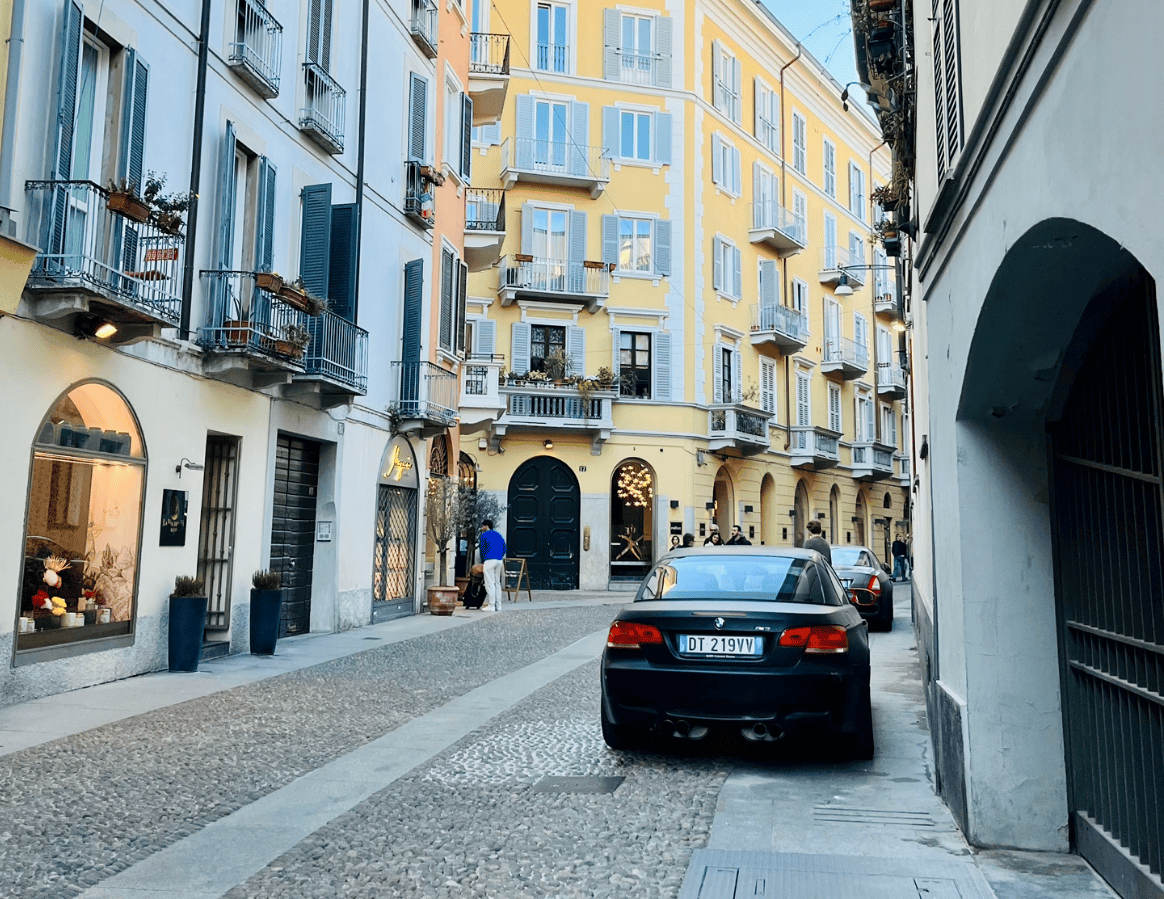
<path fill-rule="evenodd" d="M 260 288 L 254 271 L 208 270 L 201 277 L 208 314 L 198 341 L 207 375 L 262 390 L 305 373 L 304 348 L 288 333 L 292 327 L 310 333 L 305 312 Z"/>

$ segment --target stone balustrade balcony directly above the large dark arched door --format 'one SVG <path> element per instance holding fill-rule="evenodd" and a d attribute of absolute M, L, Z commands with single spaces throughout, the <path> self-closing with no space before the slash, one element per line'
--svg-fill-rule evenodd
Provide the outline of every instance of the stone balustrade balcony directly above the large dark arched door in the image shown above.
<path fill-rule="evenodd" d="M 494 440 L 508 431 L 562 432 L 590 434 L 590 452 L 597 454 L 615 426 L 611 406 L 613 390 L 595 390 L 583 397 L 576 387 L 549 383 L 503 384 L 498 388 L 505 411 L 494 424 Z"/>

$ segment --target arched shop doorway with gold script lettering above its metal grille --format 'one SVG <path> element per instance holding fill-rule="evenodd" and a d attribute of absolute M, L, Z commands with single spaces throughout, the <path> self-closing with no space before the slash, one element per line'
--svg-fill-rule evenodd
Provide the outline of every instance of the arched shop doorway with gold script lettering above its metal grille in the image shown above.
<path fill-rule="evenodd" d="M 371 620 L 390 621 L 416 611 L 417 496 L 420 484 L 412 447 L 397 437 L 384 449 L 376 488 Z"/>

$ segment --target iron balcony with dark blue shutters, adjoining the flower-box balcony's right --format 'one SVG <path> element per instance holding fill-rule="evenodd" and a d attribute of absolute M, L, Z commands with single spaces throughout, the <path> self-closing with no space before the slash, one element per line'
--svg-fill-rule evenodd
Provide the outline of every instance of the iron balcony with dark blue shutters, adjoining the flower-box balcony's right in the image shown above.
<path fill-rule="evenodd" d="M 303 374 L 296 375 L 283 395 L 320 409 L 347 405 L 368 392 L 368 332 L 333 312 L 307 317 L 311 342 L 303 356 Z"/>

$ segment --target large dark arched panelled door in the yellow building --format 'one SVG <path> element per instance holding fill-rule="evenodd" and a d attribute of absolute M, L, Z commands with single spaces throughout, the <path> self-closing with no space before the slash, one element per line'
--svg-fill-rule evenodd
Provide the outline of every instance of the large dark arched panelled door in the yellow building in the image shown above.
<path fill-rule="evenodd" d="M 510 479 L 505 554 L 525 559 L 530 586 L 576 590 L 582 494 L 565 462 L 539 455 Z"/>

